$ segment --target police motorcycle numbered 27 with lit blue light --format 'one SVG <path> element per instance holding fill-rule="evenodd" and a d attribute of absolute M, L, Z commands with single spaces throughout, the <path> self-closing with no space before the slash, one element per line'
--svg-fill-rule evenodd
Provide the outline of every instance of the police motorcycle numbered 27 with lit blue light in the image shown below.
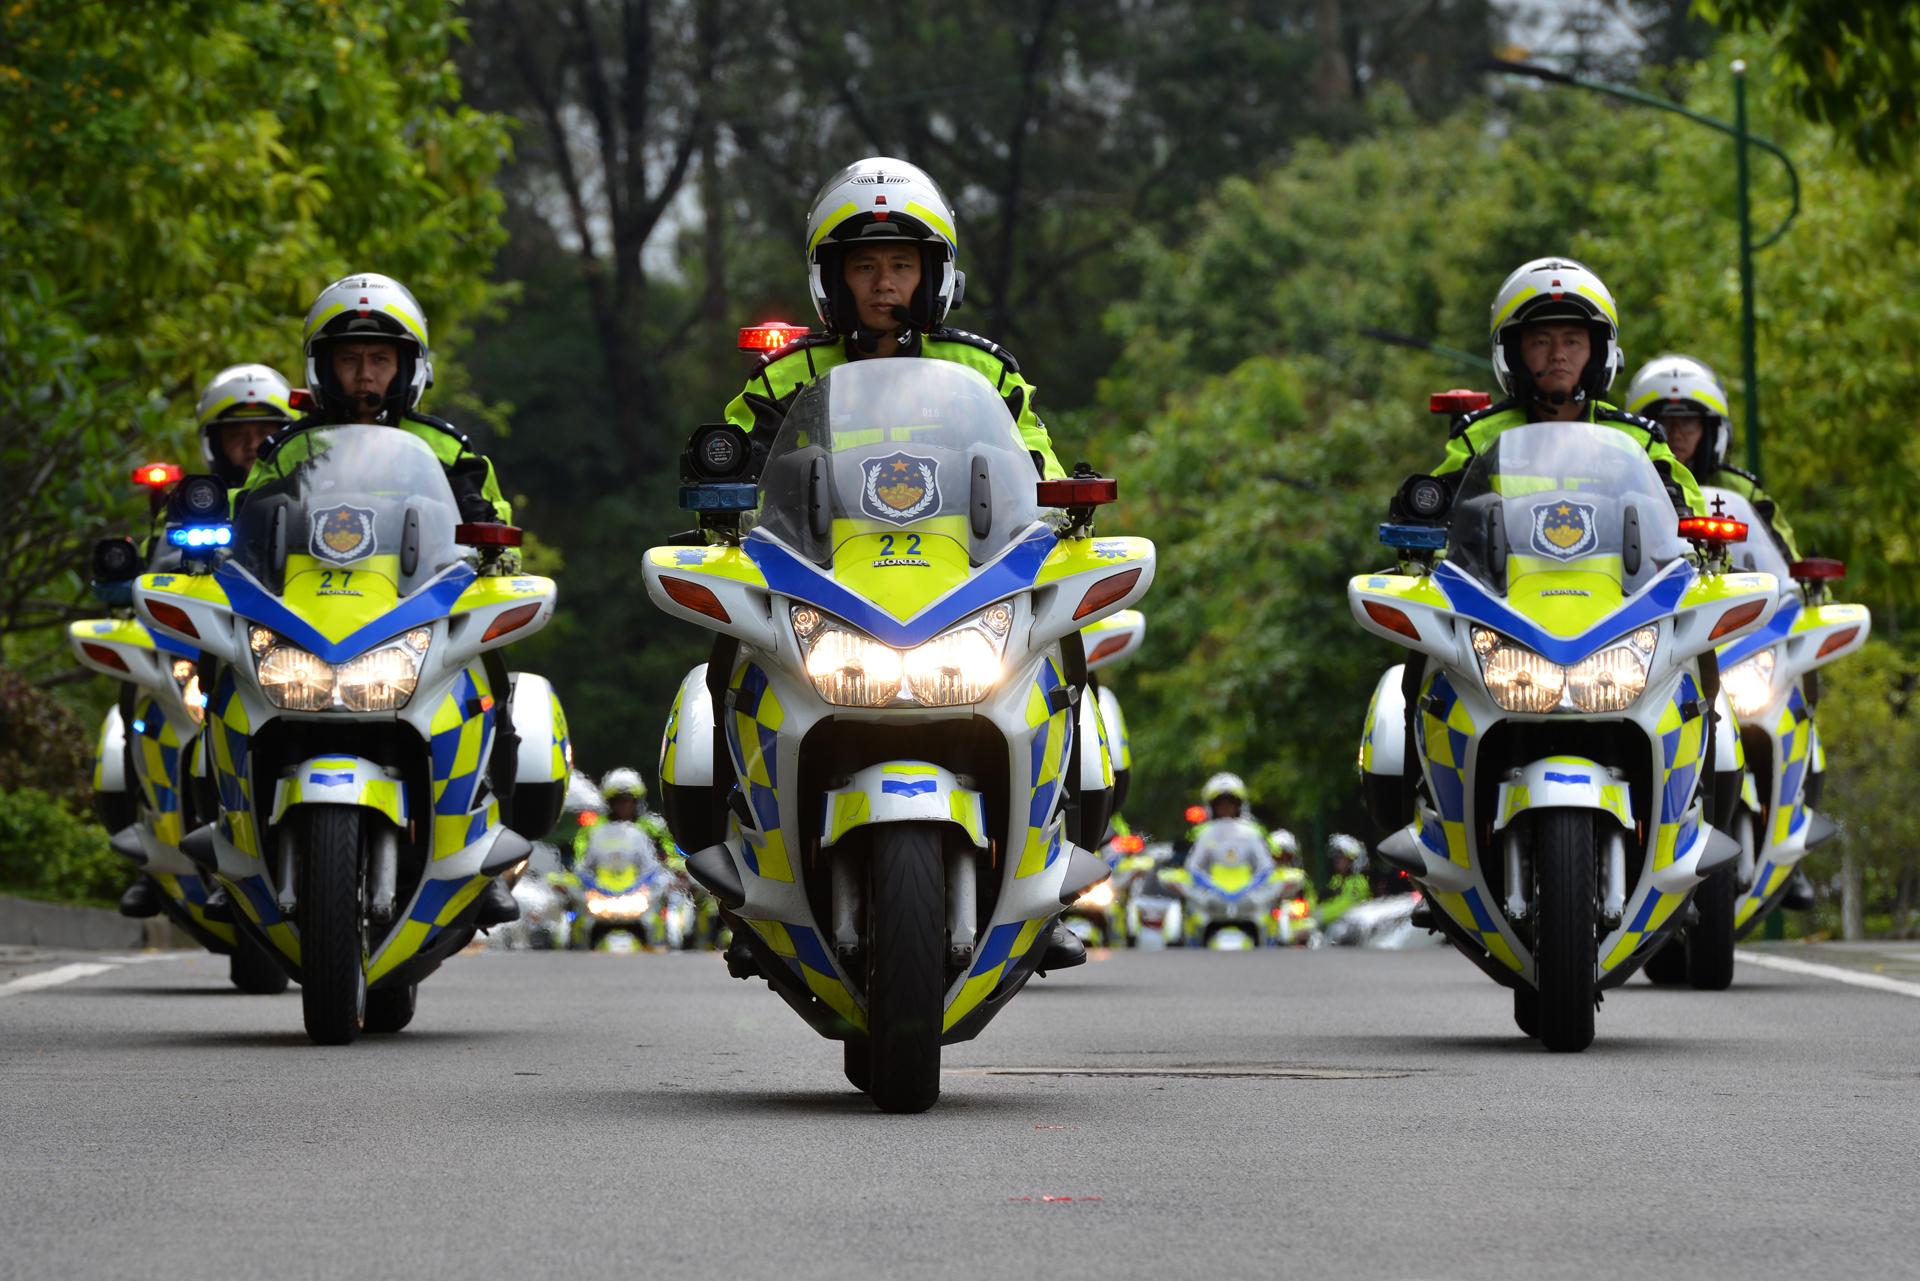
<path fill-rule="evenodd" d="M 559 699 L 486 659 L 545 626 L 555 588 L 497 572 L 518 530 L 463 524 L 407 432 L 307 428 L 259 469 L 232 555 L 142 574 L 134 609 L 205 665 L 217 818 L 180 851 L 301 985 L 307 1035 L 346 1045 L 413 1020 L 420 979 L 472 939 L 480 893 L 559 818 Z"/>

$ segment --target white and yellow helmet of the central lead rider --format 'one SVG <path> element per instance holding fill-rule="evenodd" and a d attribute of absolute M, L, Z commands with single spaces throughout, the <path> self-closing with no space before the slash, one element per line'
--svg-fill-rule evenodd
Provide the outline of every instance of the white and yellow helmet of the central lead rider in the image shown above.
<path fill-rule="evenodd" d="M 945 321 L 966 292 L 966 277 L 954 269 L 960 242 L 952 205 L 925 169 L 868 156 L 828 179 L 806 215 L 806 286 L 820 323 L 837 334 L 860 325 L 841 277 L 841 257 L 849 246 L 876 240 L 920 246 L 920 290 L 908 313 L 920 330 Z"/>

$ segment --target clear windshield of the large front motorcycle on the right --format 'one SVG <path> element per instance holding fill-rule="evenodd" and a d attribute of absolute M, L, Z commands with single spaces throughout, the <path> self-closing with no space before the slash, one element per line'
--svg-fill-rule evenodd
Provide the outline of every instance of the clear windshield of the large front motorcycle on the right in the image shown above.
<path fill-rule="evenodd" d="M 1532 423 L 1467 465 L 1446 555 L 1494 592 L 1578 603 L 1572 613 L 1586 616 L 1651 582 L 1688 544 L 1638 440 L 1588 423 Z"/>

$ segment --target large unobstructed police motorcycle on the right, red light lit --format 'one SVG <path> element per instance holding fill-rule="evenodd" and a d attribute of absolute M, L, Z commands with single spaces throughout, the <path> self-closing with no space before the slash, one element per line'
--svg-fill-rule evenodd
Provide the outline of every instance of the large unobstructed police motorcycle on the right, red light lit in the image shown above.
<path fill-rule="evenodd" d="M 1380 536 L 1411 572 L 1348 599 L 1415 657 L 1367 713 L 1369 807 L 1413 812 L 1379 851 L 1526 1035 L 1586 1049 L 1603 989 L 1740 853 L 1709 824 L 1713 651 L 1766 624 L 1778 582 L 1730 568 L 1738 522 L 1676 519 L 1644 449 L 1578 423 L 1503 432 L 1452 501 L 1409 478 Z"/>

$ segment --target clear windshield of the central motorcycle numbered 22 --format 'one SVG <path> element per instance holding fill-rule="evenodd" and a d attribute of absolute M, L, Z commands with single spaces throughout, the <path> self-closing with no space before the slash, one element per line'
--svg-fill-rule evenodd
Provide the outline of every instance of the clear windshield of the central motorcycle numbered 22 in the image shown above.
<path fill-rule="evenodd" d="M 964 570 L 1031 528 L 1037 480 L 1014 417 L 979 373 L 856 361 L 795 398 L 760 472 L 758 528 L 822 567 L 849 551 L 876 568 L 929 568 L 950 555 Z"/>

